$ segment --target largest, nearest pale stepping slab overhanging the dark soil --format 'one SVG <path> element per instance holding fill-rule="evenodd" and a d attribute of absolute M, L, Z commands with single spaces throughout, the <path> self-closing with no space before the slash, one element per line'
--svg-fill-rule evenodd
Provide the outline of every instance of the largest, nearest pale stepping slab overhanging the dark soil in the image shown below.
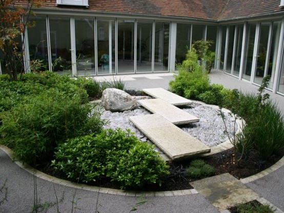
<path fill-rule="evenodd" d="M 129 119 L 172 160 L 210 152 L 208 146 L 158 114 L 130 116 Z"/>

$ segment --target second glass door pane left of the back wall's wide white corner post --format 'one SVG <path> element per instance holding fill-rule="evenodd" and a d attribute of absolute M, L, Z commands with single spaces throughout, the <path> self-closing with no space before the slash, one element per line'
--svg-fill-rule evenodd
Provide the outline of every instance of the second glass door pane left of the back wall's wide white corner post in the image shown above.
<path fill-rule="evenodd" d="M 136 73 L 152 72 L 153 22 L 137 22 Z"/>

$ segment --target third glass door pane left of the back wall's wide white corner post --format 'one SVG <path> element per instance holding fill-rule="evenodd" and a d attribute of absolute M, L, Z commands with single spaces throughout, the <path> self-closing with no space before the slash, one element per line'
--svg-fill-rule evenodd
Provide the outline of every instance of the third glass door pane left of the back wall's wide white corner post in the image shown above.
<path fill-rule="evenodd" d="M 134 73 L 134 20 L 117 20 L 117 73 Z"/>

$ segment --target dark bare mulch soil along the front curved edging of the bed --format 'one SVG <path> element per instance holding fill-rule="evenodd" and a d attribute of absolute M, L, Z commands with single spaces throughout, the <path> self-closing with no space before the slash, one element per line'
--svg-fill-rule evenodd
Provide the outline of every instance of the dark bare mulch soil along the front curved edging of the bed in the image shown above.
<path fill-rule="evenodd" d="M 244 160 L 241 160 L 239 166 L 234 160 L 234 153 L 231 150 L 227 150 L 209 157 L 202 158 L 206 163 L 212 165 L 216 169 L 216 175 L 230 173 L 238 179 L 252 176 L 256 173 L 263 171 L 264 169 L 272 166 L 284 155 L 284 150 L 271 156 L 267 161 L 260 161 L 257 157 L 257 153 L 252 152 L 249 156 L 246 156 Z M 191 160 L 184 160 L 178 162 L 169 162 L 171 166 L 171 175 L 164 181 L 163 185 L 148 185 L 138 190 L 143 191 L 166 191 L 166 190 L 182 190 L 193 188 L 190 182 L 197 179 L 190 179 L 185 175 L 185 168 L 190 165 Z M 37 165 L 36 168 L 51 176 L 68 180 L 68 178 L 61 172 L 55 171 L 50 165 Z M 70 179 L 69 179 L 70 180 Z M 71 180 L 77 182 L 76 180 Z M 89 185 L 116 188 L 119 189 L 119 184 L 111 182 L 109 178 L 101 178 Z M 129 188 L 137 190 L 136 188 Z"/>

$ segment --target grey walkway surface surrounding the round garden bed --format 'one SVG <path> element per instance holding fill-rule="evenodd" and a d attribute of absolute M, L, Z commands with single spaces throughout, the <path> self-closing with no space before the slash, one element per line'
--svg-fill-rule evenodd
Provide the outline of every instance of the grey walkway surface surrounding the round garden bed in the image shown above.
<path fill-rule="evenodd" d="M 168 82 L 173 79 L 172 74 L 153 75 L 128 75 L 119 76 L 125 80 L 128 88 L 145 89 L 161 87 L 168 89 Z M 228 88 L 238 88 L 242 91 L 256 92 L 257 87 L 240 81 L 221 72 L 213 71 L 210 74 L 212 83 L 224 84 Z M 102 78 L 102 77 L 100 77 Z M 107 77 L 106 77 L 107 78 Z M 111 76 L 111 79 L 113 77 Z M 284 114 L 284 97 L 271 94 L 273 100 L 278 102 L 281 112 Z M 265 198 L 273 205 L 284 211 L 284 166 L 271 172 L 269 175 L 247 182 L 246 185 L 253 189 L 260 197 Z M 34 178 L 33 175 L 15 164 L 8 155 L 0 149 L 0 189 L 6 181 L 7 201 L 0 205 L 0 212 L 18 213 L 31 212 L 34 197 L 38 203 L 56 202 L 64 195 L 63 202 L 59 202 L 60 212 L 129 212 L 138 202 L 137 197 L 98 193 L 92 190 L 83 190 L 50 182 L 42 178 Z M 34 196 L 34 188 L 37 188 L 37 196 Z M 5 189 L 0 192 L 0 201 L 4 197 Z M 131 194 L 130 194 L 131 195 Z M 135 195 L 135 194 L 134 194 Z M 136 212 L 218 212 L 203 196 L 196 193 L 184 193 L 182 191 L 159 193 L 159 196 L 148 195 L 144 205 L 138 206 Z M 169 196 L 171 195 L 171 196 Z M 175 195 L 175 196 L 173 196 Z M 73 202 L 72 202 L 73 201 Z M 56 206 L 48 212 L 57 212 Z"/>

